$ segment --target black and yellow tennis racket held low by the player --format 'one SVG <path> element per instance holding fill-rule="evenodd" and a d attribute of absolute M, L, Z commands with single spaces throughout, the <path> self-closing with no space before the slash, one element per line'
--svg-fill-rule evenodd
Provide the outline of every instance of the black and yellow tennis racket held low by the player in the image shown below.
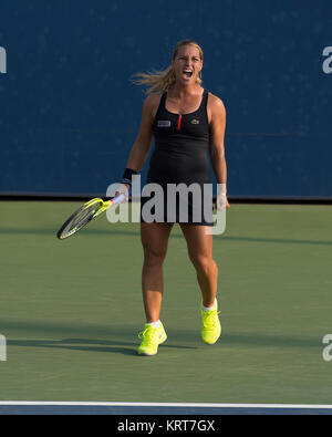
<path fill-rule="evenodd" d="M 87 201 L 86 204 L 82 205 L 81 208 L 79 208 L 74 214 L 72 214 L 71 217 L 62 225 L 62 227 L 56 232 L 56 237 L 59 240 L 64 240 L 65 238 L 73 236 L 92 219 L 100 216 L 110 207 L 121 204 L 124 200 L 126 200 L 126 196 L 121 194 L 108 200 L 103 200 L 97 197 Z"/>

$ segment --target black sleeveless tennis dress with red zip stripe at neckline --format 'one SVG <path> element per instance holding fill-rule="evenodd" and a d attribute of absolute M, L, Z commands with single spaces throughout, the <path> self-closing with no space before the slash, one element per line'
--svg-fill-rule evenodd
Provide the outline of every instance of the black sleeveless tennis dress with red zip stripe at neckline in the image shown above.
<path fill-rule="evenodd" d="M 146 180 L 148 185 L 158 185 L 163 200 L 156 201 L 154 190 L 146 194 L 145 186 L 141 199 L 141 220 L 212 226 L 208 91 L 204 91 L 197 111 L 183 115 L 166 110 L 166 97 L 167 93 L 164 93 L 153 125 L 155 149 Z M 147 210 L 154 217 L 147 217 Z"/>

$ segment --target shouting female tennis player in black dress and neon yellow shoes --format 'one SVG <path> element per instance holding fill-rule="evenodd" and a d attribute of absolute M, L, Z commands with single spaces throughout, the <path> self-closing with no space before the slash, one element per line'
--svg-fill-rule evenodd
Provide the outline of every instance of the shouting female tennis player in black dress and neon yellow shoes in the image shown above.
<path fill-rule="evenodd" d="M 220 98 L 203 89 L 201 70 L 201 48 L 193 40 L 184 40 L 176 44 L 172 64 L 166 71 L 137 75 L 137 83 L 148 85 L 148 95 L 120 193 L 129 189 L 133 175 L 141 170 L 147 159 L 154 137 L 155 149 L 149 162 L 147 183 L 158 184 L 164 189 L 164 206 L 168 205 L 169 184 L 185 184 L 187 187 L 196 184 L 203 188 L 204 184 L 210 183 L 209 155 L 217 183 L 221 186 L 217 208 L 229 208 L 224 147 L 226 111 Z M 142 212 L 147 200 L 146 197 L 142 198 Z M 201 339 L 207 344 L 214 344 L 221 333 L 216 299 L 218 268 L 212 258 L 212 235 L 206 231 L 214 222 L 204 214 L 200 220 L 194 217 L 193 198 L 187 201 L 188 217 L 183 222 L 178 214 L 179 202 L 180 199 L 177 199 L 173 219 L 166 216 L 162 220 L 148 222 L 141 214 L 144 249 L 142 289 L 146 314 L 145 329 L 138 335 L 142 343 L 137 352 L 141 355 L 155 355 L 158 345 L 167 339 L 160 321 L 163 262 L 175 222 L 179 223 L 186 239 L 201 290 Z"/>

